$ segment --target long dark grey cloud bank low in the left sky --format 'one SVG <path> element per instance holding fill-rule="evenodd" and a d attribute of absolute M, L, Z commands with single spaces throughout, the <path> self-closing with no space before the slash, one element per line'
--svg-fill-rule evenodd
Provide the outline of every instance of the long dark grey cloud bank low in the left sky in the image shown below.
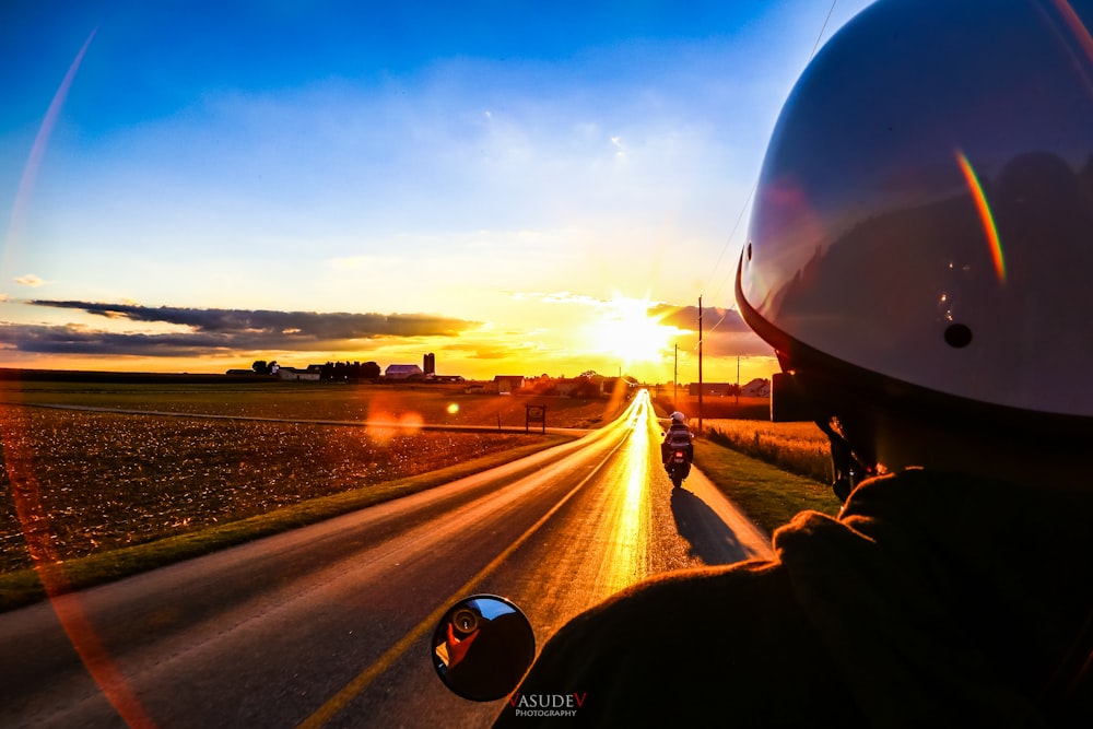
<path fill-rule="evenodd" d="M 233 351 L 351 351 L 361 340 L 457 337 L 479 322 L 428 314 L 349 314 L 197 309 L 134 304 L 31 301 L 109 319 L 189 327 L 171 333 L 125 333 L 78 325 L 0 324 L 0 346 L 44 354 L 200 356 Z"/>

